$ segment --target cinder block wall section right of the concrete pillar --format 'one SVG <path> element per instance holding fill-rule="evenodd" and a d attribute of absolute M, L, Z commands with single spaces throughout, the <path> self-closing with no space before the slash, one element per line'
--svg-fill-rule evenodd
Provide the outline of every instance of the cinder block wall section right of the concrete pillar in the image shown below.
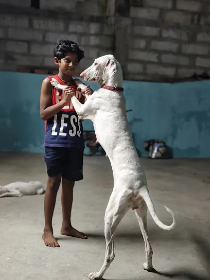
<path fill-rule="evenodd" d="M 209 71 L 209 1 L 133 0 L 131 4 L 129 79 L 163 80 Z"/>

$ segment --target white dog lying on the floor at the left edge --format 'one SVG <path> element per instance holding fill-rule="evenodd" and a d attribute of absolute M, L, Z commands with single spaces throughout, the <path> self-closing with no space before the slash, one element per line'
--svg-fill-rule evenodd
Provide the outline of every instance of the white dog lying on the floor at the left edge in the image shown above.
<path fill-rule="evenodd" d="M 40 182 L 13 182 L 0 186 L 0 198 L 42 195 L 45 188 Z"/>

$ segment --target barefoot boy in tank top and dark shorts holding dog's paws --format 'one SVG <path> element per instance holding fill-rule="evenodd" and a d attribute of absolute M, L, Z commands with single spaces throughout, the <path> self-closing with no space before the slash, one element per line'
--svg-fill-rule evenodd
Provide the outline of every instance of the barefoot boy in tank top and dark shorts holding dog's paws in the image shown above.
<path fill-rule="evenodd" d="M 52 219 L 57 192 L 62 181 L 62 213 L 61 234 L 77 238 L 87 238 L 84 233 L 74 229 L 71 224 L 73 187 L 75 181 L 83 179 L 83 129 L 80 119 L 71 103 L 75 94 L 81 103 L 84 94 L 92 94 L 90 86 L 85 92 L 77 90 L 72 76 L 84 51 L 77 43 L 60 40 L 54 49 L 54 62 L 59 67 L 58 75 L 47 77 L 42 82 L 40 96 L 40 115 L 45 120 L 45 162 L 47 166 L 47 187 L 44 199 L 45 226 L 43 240 L 48 247 L 60 247 L 53 235 Z M 55 78 L 68 88 L 56 91 L 50 84 Z"/>

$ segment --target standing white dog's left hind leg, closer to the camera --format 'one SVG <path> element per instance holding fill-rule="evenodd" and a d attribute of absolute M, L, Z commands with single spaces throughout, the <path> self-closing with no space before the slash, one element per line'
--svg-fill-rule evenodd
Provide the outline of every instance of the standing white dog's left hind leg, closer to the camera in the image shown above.
<path fill-rule="evenodd" d="M 118 194 L 119 195 L 119 194 Z M 99 272 L 92 272 L 88 275 L 91 280 L 102 279 L 103 274 L 114 260 L 114 232 L 121 219 L 128 212 L 127 199 L 125 196 L 118 197 L 115 193 L 111 195 L 105 217 L 104 217 L 104 235 L 106 239 L 106 253 L 103 265 Z"/>

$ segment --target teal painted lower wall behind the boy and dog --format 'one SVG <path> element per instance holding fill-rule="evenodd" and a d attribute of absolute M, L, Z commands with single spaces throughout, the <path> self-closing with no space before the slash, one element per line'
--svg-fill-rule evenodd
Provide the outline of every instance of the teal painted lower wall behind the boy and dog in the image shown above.
<path fill-rule="evenodd" d="M 46 75 L 0 72 L 0 150 L 43 152 L 44 121 L 39 114 Z M 96 83 L 90 83 L 93 90 Z M 134 143 L 166 141 L 178 158 L 210 157 L 210 81 L 176 84 L 124 81 L 128 120 Z M 92 129 L 85 120 L 84 129 Z"/>

